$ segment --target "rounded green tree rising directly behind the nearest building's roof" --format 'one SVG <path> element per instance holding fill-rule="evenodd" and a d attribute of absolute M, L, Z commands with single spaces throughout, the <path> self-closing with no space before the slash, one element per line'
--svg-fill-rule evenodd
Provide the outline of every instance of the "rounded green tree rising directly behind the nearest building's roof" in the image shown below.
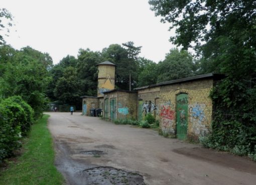
<path fill-rule="evenodd" d="M 171 49 L 157 66 L 157 82 L 193 76 L 193 57 L 185 50 Z"/>

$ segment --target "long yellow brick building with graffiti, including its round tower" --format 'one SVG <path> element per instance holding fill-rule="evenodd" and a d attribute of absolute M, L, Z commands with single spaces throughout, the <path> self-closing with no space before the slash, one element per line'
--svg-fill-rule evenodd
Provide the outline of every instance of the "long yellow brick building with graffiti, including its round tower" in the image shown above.
<path fill-rule="evenodd" d="M 198 139 L 210 130 L 212 100 L 209 97 L 220 74 L 204 74 L 136 88 L 114 89 L 115 65 L 98 64 L 97 97 L 83 96 L 83 114 L 101 108 L 105 119 L 136 118 L 153 114 L 160 122 L 160 132 L 180 139 Z"/>

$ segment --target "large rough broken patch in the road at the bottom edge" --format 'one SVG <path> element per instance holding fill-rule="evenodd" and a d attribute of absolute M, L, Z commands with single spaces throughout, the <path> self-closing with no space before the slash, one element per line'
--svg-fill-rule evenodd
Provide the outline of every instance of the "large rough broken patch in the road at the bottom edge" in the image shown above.
<path fill-rule="evenodd" d="M 93 167 L 81 171 L 80 175 L 91 185 L 145 185 L 143 176 L 136 172 L 113 167 Z"/>

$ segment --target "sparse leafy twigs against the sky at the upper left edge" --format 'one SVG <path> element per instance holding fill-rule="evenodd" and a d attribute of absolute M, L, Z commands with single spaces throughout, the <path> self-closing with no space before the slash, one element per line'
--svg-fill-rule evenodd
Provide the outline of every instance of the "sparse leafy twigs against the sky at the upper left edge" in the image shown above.
<path fill-rule="evenodd" d="M 0 46 L 5 44 L 5 39 L 3 37 L 3 34 L 5 36 L 8 36 L 8 34 L 3 33 L 5 31 L 5 29 L 7 30 L 7 33 L 10 32 L 9 28 L 6 28 L 7 26 L 4 25 L 3 21 L 9 21 L 7 23 L 8 27 L 12 27 L 13 26 L 13 16 L 12 14 L 7 10 L 7 9 L 0 9 L 0 31 L 2 32 L 0 35 Z"/>

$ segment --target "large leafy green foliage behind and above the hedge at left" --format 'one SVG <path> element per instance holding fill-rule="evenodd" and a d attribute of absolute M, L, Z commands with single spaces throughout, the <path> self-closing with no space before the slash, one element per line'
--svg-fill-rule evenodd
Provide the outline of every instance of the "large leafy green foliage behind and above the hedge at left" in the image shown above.
<path fill-rule="evenodd" d="M 9 46 L 1 46 L 0 51 L 4 56 L 0 57 L 0 63 L 4 64 L 0 96 L 21 96 L 33 108 L 35 118 L 39 118 L 47 103 L 44 93 L 50 80 L 50 56 L 30 47 L 15 51 Z"/>

